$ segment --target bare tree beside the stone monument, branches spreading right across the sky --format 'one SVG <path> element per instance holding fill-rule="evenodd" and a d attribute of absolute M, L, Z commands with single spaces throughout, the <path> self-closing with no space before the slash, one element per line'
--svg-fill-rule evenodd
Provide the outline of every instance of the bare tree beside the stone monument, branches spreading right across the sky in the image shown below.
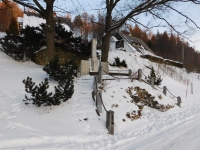
<path fill-rule="evenodd" d="M 138 16 L 149 15 L 153 18 L 164 21 L 170 28 L 172 28 L 178 34 L 182 34 L 173 24 L 170 19 L 164 17 L 164 14 L 173 11 L 179 16 L 185 18 L 185 25 L 195 28 L 200 27 L 186 14 L 177 9 L 177 4 L 193 3 L 200 4 L 200 0 L 104 0 L 106 10 L 105 21 L 105 34 L 103 36 L 102 47 L 102 61 L 108 61 L 109 41 L 111 32 L 121 27 L 127 20 L 139 24 L 145 28 L 149 28 L 149 24 L 144 24 L 138 19 Z M 115 13 L 118 13 L 120 19 L 113 21 L 112 17 Z M 159 26 L 159 25 L 157 25 Z"/>

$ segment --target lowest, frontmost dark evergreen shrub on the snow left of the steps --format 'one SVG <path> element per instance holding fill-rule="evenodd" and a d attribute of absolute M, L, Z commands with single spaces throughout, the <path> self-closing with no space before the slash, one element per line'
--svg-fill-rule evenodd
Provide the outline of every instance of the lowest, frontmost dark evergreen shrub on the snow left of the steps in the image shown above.
<path fill-rule="evenodd" d="M 51 105 L 60 105 L 61 102 L 66 102 L 74 93 L 74 84 L 73 79 L 66 79 L 64 81 L 59 81 L 58 86 L 55 86 L 54 95 L 52 92 L 48 93 L 47 89 L 49 88 L 48 79 L 44 79 L 44 82 L 40 83 L 39 86 L 35 85 L 35 82 L 32 81 L 32 78 L 27 77 L 23 80 L 25 84 L 25 91 L 31 94 L 30 97 L 25 95 L 25 104 L 30 104 L 29 101 L 32 101 L 33 105 L 37 107 L 40 106 L 51 106 Z"/>

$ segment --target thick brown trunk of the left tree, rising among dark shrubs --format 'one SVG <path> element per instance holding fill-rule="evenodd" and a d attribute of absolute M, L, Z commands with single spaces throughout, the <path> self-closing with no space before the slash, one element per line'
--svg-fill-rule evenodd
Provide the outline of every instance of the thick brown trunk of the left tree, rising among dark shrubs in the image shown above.
<path fill-rule="evenodd" d="M 46 1 L 46 63 L 48 63 L 55 55 L 53 3 L 54 0 Z"/>

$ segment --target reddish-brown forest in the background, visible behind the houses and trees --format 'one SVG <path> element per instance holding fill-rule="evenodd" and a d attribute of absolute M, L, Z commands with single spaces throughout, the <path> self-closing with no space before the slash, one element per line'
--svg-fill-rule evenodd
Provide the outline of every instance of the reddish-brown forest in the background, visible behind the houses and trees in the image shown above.
<path fill-rule="evenodd" d="M 4 10 L 4 11 L 3 11 Z M 6 20 L 5 16 L 11 15 L 11 19 Z M 12 23 L 12 20 L 17 21 L 17 17 L 22 17 L 23 11 L 16 3 L 11 3 L 9 6 L 0 2 L 0 19 L 2 24 Z M 69 15 L 66 15 L 69 18 Z M 102 36 L 105 30 L 105 17 L 98 11 L 97 15 L 90 15 L 88 13 L 82 13 L 77 15 L 72 20 L 74 24 L 73 31 L 75 36 L 81 36 L 83 41 L 88 42 L 88 39 L 96 38 L 98 41 L 98 48 L 101 48 Z M 140 29 L 139 26 L 129 25 L 123 26 L 121 29 L 125 33 L 129 33 L 134 37 L 142 39 L 153 52 L 163 57 L 164 59 L 171 59 L 178 62 L 182 62 L 182 47 L 184 47 L 184 67 L 188 71 L 200 72 L 200 52 L 195 51 L 188 42 L 182 40 L 179 35 L 173 32 L 152 33 Z"/>

